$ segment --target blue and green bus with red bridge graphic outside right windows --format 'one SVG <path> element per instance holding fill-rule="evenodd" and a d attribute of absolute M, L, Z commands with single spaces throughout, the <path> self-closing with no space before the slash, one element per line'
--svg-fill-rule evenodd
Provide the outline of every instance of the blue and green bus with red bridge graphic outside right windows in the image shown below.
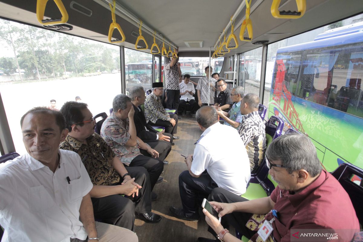
<path fill-rule="evenodd" d="M 278 49 L 270 91 L 269 116 L 308 135 L 329 172 L 363 168 L 363 22 L 347 28 Z"/>

